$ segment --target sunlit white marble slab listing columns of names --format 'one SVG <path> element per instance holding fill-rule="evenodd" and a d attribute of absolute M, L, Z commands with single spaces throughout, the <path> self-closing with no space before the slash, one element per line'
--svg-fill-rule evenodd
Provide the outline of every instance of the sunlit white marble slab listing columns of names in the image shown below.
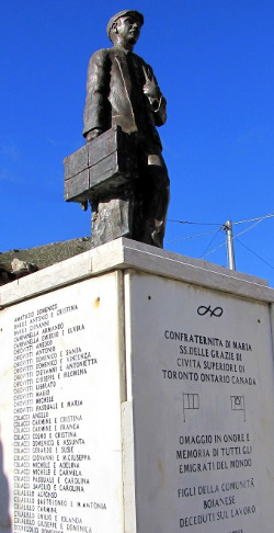
<path fill-rule="evenodd" d="M 119 287 L 116 272 L 1 311 L 1 512 L 14 533 L 123 532 Z"/>

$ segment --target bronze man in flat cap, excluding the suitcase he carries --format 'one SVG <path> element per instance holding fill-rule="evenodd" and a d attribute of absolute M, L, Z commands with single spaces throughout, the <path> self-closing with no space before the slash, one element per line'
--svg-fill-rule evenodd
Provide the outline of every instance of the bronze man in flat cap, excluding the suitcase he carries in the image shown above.
<path fill-rule="evenodd" d="M 133 53 L 142 24 L 142 14 L 130 10 L 110 20 L 113 47 L 95 52 L 89 64 L 83 136 L 90 143 L 117 125 L 135 138 L 139 222 L 133 238 L 162 248 L 169 177 L 156 126 L 167 120 L 167 102 L 152 68 Z"/>

